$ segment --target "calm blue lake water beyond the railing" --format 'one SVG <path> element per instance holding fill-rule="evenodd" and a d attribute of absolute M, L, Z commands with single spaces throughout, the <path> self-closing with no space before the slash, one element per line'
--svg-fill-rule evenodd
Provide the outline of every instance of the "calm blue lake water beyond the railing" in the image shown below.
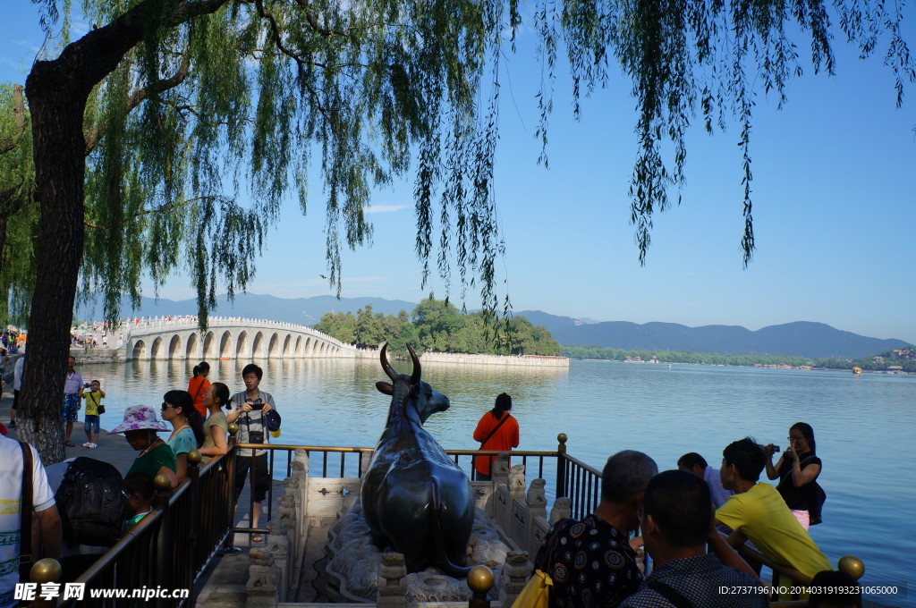
<path fill-rule="evenodd" d="M 186 388 L 194 363 L 87 365 L 82 373 L 102 379 L 109 412 L 103 426 L 111 429 L 124 407 L 158 407 L 167 390 Z M 211 364 L 212 381 L 244 389 L 244 364 Z M 375 361 L 259 364 L 261 388 L 283 416 L 284 443 L 375 445 L 388 407 L 375 388 L 387 379 Z M 395 366 L 409 372 L 409 363 Z M 647 452 L 660 470 L 676 468 L 687 451 L 718 468 L 729 442 L 750 435 L 784 449 L 789 427 L 808 422 L 827 493 L 814 540 L 834 564 L 845 554 L 863 559 L 865 584 L 902 587 L 913 578 L 916 376 L 573 361 L 568 370 L 428 364 L 423 379 L 452 401 L 426 425 L 443 447 L 475 449 L 477 420 L 505 391 L 521 428 L 519 449 L 556 450 L 564 432 L 569 453 L 599 469 L 626 449 Z M 916 606 L 913 596 L 875 599 Z"/>

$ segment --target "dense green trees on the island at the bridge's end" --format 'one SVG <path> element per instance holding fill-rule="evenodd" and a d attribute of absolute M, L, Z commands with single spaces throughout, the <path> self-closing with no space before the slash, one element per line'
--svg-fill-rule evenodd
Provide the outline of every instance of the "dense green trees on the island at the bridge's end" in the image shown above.
<path fill-rule="evenodd" d="M 495 334 L 485 312 L 463 313 L 443 299 L 424 299 L 410 316 L 404 310 L 397 316 L 373 314 L 371 304 L 358 309 L 355 317 L 350 312 L 326 312 L 315 329 L 361 347 L 387 341 L 393 353 L 406 352 L 409 344 L 417 351 L 439 353 L 560 354 L 551 332 L 524 317 L 507 320 Z"/>

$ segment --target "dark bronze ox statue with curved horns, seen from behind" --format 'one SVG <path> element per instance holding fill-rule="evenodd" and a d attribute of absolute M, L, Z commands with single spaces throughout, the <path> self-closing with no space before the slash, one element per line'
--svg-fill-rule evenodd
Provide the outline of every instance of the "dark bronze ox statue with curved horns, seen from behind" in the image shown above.
<path fill-rule="evenodd" d="M 474 495 L 467 475 L 442 450 L 423 423 L 449 407 L 449 398 L 420 380 L 420 359 L 408 346 L 413 374 L 388 364 L 391 383 L 376 388 L 391 396 L 385 430 L 365 473 L 361 500 L 365 519 L 381 546 L 404 554 L 408 572 L 434 565 L 455 577 L 467 575 L 467 543 L 474 525 Z"/>

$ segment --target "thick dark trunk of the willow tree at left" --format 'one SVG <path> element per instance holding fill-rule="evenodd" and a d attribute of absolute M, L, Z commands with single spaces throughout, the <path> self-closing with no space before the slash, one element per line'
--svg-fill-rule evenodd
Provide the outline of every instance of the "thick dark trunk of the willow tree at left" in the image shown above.
<path fill-rule="evenodd" d="M 16 424 L 46 465 L 66 457 L 61 401 L 82 260 L 82 114 L 88 91 L 72 76 L 60 60 L 38 61 L 26 82 L 41 230 Z"/>

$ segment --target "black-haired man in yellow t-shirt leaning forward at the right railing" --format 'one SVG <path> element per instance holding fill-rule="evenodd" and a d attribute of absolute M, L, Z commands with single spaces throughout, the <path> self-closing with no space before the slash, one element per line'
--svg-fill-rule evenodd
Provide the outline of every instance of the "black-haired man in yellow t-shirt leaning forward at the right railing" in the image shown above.
<path fill-rule="evenodd" d="M 717 525 L 735 530 L 728 544 L 738 548 L 750 540 L 767 558 L 806 576 L 834 570 L 776 488 L 758 483 L 767 462 L 763 446 L 746 437 L 729 444 L 722 455 L 722 487 L 736 493 L 715 511 Z"/>

